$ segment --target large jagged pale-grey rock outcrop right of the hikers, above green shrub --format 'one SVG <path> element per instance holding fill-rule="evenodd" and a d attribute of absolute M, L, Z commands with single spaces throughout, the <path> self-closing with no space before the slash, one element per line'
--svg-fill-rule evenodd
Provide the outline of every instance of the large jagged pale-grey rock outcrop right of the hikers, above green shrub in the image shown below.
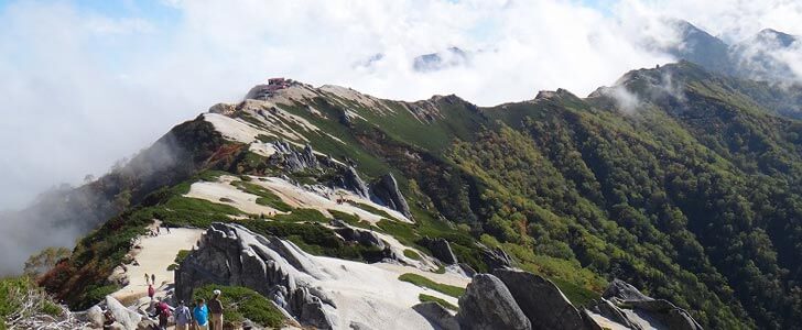
<path fill-rule="evenodd" d="M 308 268 L 303 256 L 293 253 L 296 246 L 288 244 L 238 224 L 213 223 L 199 249 L 176 270 L 176 295 L 188 300 L 193 288 L 206 284 L 243 286 L 277 300 L 304 326 L 332 329 L 325 305 L 335 306 L 322 293 L 296 280 L 299 272 L 315 270 Z"/>

